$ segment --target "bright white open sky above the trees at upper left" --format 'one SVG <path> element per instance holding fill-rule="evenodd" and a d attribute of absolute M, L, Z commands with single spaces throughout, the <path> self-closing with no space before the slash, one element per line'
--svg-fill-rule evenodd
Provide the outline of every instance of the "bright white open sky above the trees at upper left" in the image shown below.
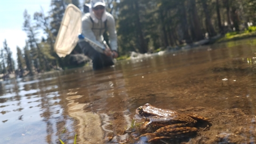
<path fill-rule="evenodd" d="M 22 30 L 23 12 L 25 9 L 31 19 L 35 12 L 41 11 L 43 7 L 45 15 L 49 15 L 51 0 L 9 0 L 0 3 L 0 49 L 3 48 L 4 39 L 12 51 L 14 61 L 17 60 L 17 46 L 21 49 L 25 46 L 27 35 Z"/>

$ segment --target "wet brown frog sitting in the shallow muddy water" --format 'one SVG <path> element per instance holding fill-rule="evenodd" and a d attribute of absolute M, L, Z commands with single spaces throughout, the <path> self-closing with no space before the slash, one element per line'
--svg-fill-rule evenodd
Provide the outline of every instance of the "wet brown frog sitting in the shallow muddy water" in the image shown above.
<path fill-rule="evenodd" d="M 154 133 L 140 135 L 140 137 L 146 136 L 149 142 L 164 138 L 172 139 L 182 137 L 182 135 L 187 135 L 189 133 L 194 133 L 198 131 L 196 127 L 193 127 L 197 122 L 196 119 L 209 121 L 207 118 L 193 114 L 185 115 L 174 110 L 156 108 L 149 103 L 137 108 L 136 114 L 146 118 L 146 122 L 141 125 L 141 131 L 146 131 L 150 124 L 163 126 L 157 129 Z"/>

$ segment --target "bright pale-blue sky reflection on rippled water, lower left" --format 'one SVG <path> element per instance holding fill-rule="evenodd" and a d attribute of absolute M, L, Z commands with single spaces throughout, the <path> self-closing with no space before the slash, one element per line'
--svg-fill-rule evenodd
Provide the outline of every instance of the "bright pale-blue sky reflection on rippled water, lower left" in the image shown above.
<path fill-rule="evenodd" d="M 64 113 L 60 83 L 55 74 L 1 83 L 1 143 L 55 143 L 61 136 L 73 137 L 74 120 Z"/>

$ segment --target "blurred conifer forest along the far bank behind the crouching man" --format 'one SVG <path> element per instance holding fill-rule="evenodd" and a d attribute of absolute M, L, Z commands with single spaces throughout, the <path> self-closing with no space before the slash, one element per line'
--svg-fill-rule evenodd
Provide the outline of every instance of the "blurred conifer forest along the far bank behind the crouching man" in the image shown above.
<path fill-rule="evenodd" d="M 25 76 L 85 64 L 77 63 L 70 55 L 59 58 L 54 52 L 55 38 L 70 3 L 82 10 L 79 0 L 52 0 L 49 12 L 39 10 L 33 18 L 25 10 L 26 46 L 17 46 L 15 69 L 10 47 L 3 42 L 0 79 L 14 71 Z M 121 55 L 189 44 L 217 34 L 246 30 L 256 22 L 253 0 L 106 0 L 106 3 L 107 11 L 116 19 Z M 44 31 L 45 37 L 39 36 L 39 30 Z M 75 51 L 81 52 L 78 46 Z"/>

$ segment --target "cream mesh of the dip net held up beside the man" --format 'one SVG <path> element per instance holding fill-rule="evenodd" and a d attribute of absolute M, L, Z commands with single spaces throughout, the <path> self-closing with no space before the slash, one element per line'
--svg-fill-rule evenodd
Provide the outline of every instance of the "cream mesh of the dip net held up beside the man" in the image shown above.
<path fill-rule="evenodd" d="M 73 4 L 69 4 L 63 16 L 54 50 L 59 57 L 66 57 L 75 48 L 78 34 L 82 32 L 82 13 Z"/>

